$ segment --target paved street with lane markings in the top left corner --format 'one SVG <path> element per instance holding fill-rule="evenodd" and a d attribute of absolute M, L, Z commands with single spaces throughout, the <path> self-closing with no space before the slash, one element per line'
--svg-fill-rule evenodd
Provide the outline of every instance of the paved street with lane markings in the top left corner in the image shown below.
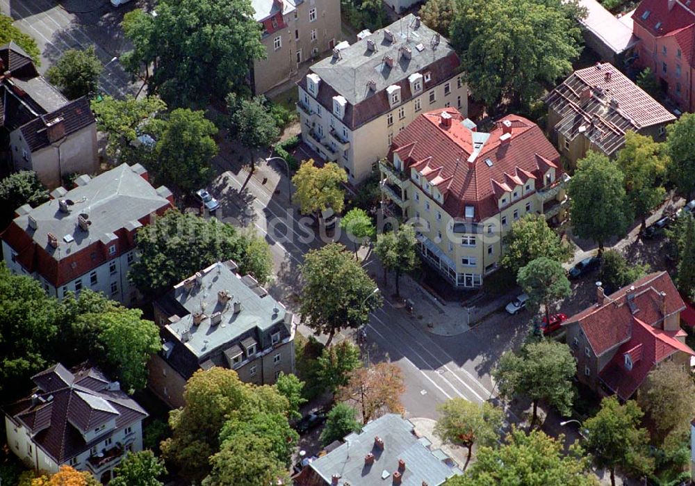
<path fill-rule="evenodd" d="M 131 83 L 115 56 L 126 51 L 120 22 L 126 11 L 140 2 L 133 1 L 119 9 L 108 0 L 0 0 L 0 11 L 15 19 L 15 25 L 31 35 L 41 51 L 40 72 L 56 63 L 68 49 L 86 49 L 94 45 L 106 67 L 99 87 L 108 95 L 124 97 L 135 94 L 139 85 Z M 66 9 L 67 7 L 67 9 Z M 68 10 L 70 9 L 70 11 Z"/>

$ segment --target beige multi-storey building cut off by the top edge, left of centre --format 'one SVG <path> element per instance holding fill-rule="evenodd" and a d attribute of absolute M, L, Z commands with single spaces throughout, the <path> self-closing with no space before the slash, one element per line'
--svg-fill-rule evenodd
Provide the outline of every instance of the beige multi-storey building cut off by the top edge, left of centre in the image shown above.
<path fill-rule="evenodd" d="M 340 0 L 253 0 L 252 6 L 266 54 L 254 62 L 256 94 L 291 79 L 301 63 L 330 51 L 342 37 Z"/>

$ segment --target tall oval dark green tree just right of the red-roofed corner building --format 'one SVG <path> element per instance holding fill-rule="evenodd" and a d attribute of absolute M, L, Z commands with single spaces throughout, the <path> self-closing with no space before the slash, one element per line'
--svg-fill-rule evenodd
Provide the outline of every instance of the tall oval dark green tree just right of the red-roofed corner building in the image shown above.
<path fill-rule="evenodd" d="M 580 238 L 596 241 L 599 255 L 605 241 L 625 234 L 632 222 L 623 180 L 605 155 L 589 152 L 569 182 L 572 228 Z"/>

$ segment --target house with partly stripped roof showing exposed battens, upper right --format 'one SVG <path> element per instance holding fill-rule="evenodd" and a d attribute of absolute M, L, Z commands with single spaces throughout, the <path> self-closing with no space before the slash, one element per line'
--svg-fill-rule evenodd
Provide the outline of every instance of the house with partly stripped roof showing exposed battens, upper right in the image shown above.
<path fill-rule="evenodd" d="M 573 72 L 546 97 L 548 130 L 575 166 L 589 150 L 613 157 L 635 131 L 662 142 L 676 117 L 612 64 Z"/>

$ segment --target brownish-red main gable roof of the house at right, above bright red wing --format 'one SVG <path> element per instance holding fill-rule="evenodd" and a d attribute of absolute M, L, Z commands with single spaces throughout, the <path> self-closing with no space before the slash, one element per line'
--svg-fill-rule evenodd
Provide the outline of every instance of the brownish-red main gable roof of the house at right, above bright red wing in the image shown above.
<path fill-rule="evenodd" d="M 631 288 L 634 289 L 630 290 Z M 602 306 L 593 305 L 575 314 L 564 325 L 579 323 L 591 349 L 600 356 L 607 350 L 629 341 L 634 327 L 633 318 L 639 318 L 651 326 L 662 321 L 662 292 L 666 293 L 667 315 L 685 309 L 685 304 L 669 274 L 652 273 L 607 296 Z M 632 295 L 630 299 L 627 297 L 628 293 Z"/>

